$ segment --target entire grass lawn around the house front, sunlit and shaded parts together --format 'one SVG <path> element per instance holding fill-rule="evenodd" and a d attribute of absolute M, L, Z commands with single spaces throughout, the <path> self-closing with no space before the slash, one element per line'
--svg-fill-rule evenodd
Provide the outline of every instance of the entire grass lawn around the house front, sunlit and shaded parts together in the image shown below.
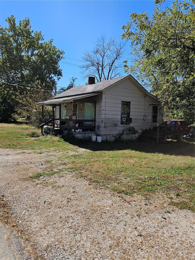
<path fill-rule="evenodd" d="M 77 176 L 119 194 L 166 194 L 171 205 L 195 211 L 194 143 L 157 145 L 138 141 L 65 142 L 55 136 L 27 138 L 32 131 L 38 130 L 23 124 L 0 124 L 0 147 L 37 152 L 52 148 L 50 153 L 56 154 L 55 167 L 59 166 L 60 171 L 64 165 L 64 169 Z M 76 151 L 78 147 L 87 150 L 79 154 L 63 153 Z M 60 156 L 56 151 L 60 151 Z M 44 172 L 47 174 L 49 169 Z"/>

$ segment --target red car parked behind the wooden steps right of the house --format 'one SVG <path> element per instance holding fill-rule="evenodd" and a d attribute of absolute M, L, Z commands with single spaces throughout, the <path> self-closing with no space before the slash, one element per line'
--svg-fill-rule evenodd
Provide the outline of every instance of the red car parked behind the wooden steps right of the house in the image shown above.
<path fill-rule="evenodd" d="M 190 133 L 190 126 L 188 122 L 184 120 L 163 120 L 167 123 L 169 130 L 175 132 L 184 132 L 185 134 Z"/>

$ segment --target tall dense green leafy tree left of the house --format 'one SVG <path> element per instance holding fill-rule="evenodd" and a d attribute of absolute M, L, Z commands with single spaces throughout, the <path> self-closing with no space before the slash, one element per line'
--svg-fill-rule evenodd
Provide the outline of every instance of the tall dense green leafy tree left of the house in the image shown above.
<path fill-rule="evenodd" d="M 6 22 L 8 27 L 0 26 L 0 121 L 20 116 L 30 89 L 51 94 L 62 77 L 59 61 L 64 54 L 52 40 L 44 41 L 41 31 L 31 30 L 29 18 L 17 25 L 10 16 Z"/>

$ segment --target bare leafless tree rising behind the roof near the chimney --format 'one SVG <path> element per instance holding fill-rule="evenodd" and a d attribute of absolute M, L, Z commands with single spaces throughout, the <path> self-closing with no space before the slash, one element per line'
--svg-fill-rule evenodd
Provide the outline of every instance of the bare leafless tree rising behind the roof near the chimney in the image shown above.
<path fill-rule="evenodd" d="M 106 41 L 105 35 L 102 35 L 92 51 L 84 52 L 81 66 L 84 77 L 91 75 L 99 82 L 120 76 L 124 47 L 124 42 L 117 42 L 114 38 Z"/>

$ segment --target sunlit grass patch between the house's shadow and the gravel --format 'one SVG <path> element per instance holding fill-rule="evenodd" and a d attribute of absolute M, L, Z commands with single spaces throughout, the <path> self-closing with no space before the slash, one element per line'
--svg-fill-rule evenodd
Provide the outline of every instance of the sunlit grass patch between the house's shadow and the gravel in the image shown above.
<path fill-rule="evenodd" d="M 194 158 L 135 151 L 136 143 L 129 142 L 129 149 L 89 151 L 61 160 L 68 159 L 69 170 L 78 176 L 112 191 L 144 196 L 163 193 L 173 198 L 171 205 L 194 211 Z"/>

